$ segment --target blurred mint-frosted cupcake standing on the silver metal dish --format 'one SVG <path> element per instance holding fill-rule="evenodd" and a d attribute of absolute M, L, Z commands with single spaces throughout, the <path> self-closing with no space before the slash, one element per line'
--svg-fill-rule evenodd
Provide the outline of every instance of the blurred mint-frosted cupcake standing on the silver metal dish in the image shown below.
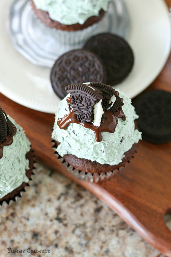
<path fill-rule="evenodd" d="M 96 34 L 110 0 L 30 0 L 36 17 L 62 44 L 74 45 Z"/>

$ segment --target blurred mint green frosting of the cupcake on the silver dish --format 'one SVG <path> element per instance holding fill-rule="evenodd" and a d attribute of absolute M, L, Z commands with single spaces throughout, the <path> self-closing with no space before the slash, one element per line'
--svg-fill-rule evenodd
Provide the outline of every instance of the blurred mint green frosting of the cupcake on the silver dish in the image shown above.
<path fill-rule="evenodd" d="M 98 16 L 100 9 L 107 11 L 110 0 L 33 0 L 36 8 L 62 24 L 83 24 L 89 17 Z"/>

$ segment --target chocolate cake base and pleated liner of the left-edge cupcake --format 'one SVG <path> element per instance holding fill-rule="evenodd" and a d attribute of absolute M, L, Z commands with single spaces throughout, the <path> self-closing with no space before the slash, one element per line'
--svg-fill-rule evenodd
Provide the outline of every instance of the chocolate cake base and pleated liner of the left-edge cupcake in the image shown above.
<path fill-rule="evenodd" d="M 26 170 L 26 176 L 29 178 L 29 180 L 32 180 L 31 176 L 34 175 L 33 170 L 36 169 L 34 164 L 36 163 L 35 158 L 36 156 L 34 155 L 34 150 L 30 150 L 26 154 L 26 158 L 29 160 L 29 169 Z M 12 200 L 14 202 L 17 202 L 17 197 L 22 197 L 22 192 L 25 192 L 25 187 L 30 186 L 29 183 L 23 182 L 21 186 L 17 187 L 14 189 L 12 192 L 4 196 L 3 198 L 0 199 L 0 205 L 3 204 L 3 202 L 6 202 L 9 204 L 9 202 Z"/>

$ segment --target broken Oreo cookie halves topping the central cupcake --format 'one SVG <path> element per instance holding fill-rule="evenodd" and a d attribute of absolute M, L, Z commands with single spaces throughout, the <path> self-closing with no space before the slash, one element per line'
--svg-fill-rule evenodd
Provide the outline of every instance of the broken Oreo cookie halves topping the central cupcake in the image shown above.
<path fill-rule="evenodd" d="M 96 112 L 101 114 L 101 123 L 104 121 L 104 113 L 107 110 L 115 113 L 123 105 L 123 99 L 119 97 L 119 93 L 104 83 L 71 84 L 65 90 L 70 93 L 71 106 L 81 123 L 94 122 L 95 104 L 97 103 Z"/>

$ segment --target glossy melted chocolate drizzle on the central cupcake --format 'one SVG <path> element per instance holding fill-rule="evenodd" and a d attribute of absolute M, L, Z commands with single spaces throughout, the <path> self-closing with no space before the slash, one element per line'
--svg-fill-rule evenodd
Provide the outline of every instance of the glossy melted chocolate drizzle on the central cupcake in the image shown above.
<path fill-rule="evenodd" d="M 70 123 L 80 124 L 83 127 L 89 128 L 94 131 L 95 140 L 97 142 L 100 142 L 102 140 L 101 132 L 103 131 L 109 132 L 109 133 L 115 132 L 115 128 L 117 126 L 117 122 L 119 118 L 122 118 L 123 121 L 126 120 L 121 107 L 114 114 L 111 113 L 110 111 L 105 111 L 104 121 L 99 127 L 96 127 L 93 125 L 93 123 L 89 123 L 89 122 L 80 123 L 80 121 L 77 120 L 77 117 L 76 117 L 76 114 L 74 113 L 73 108 L 70 106 L 71 98 L 67 97 L 66 101 L 68 102 L 68 108 L 70 113 L 68 115 L 65 115 L 64 118 L 58 119 L 57 124 L 60 127 L 60 129 L 66 129 Z"/>

